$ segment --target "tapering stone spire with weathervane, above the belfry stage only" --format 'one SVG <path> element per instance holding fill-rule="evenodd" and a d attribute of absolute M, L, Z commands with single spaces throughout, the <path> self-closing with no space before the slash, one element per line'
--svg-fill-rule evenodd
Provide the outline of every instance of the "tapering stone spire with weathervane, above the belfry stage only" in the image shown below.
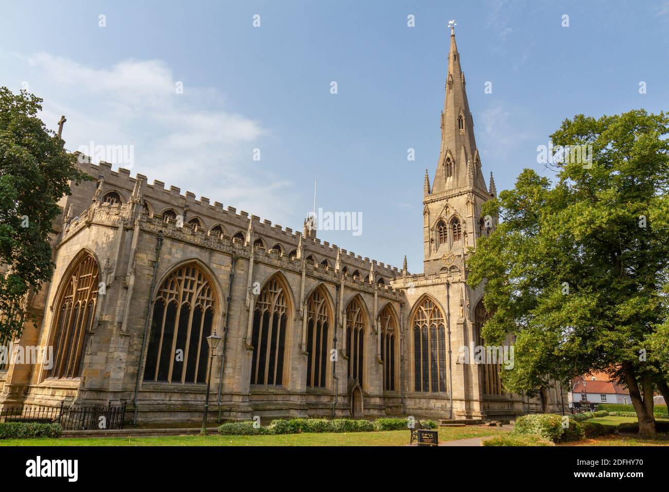
<path fill-rule="evenodd" d="M 455 23 L 451 27 L 451 46 L 448 54 L 448 76 L 446 78 L 446 97 L 442 112 L 442 145 L 437 171 L 432 183 L 432 193 L 463 187 L 470 184 L 468 161 L 471 160 L 474 171 L 474 186 L 480 187 L 482 181 L 478 171 L 478 153 L 474 139 L 474 122 L 469 110 L 465 78 L 460 66 L 460 53 L 456 44 Z M 488 191 L 487 189 L 485 191 Z"/>

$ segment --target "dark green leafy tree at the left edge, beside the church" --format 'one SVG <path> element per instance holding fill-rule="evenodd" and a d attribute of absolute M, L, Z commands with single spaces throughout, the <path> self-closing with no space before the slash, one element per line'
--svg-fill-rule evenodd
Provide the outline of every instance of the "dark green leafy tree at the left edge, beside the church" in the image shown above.
<path fill-rule="evenodd" d="M 58 200 L 86 175 L 37 117 L 42 100 L 0 87 L 0 340 L 21 335 L 29 292 L 54 272 Z"/>

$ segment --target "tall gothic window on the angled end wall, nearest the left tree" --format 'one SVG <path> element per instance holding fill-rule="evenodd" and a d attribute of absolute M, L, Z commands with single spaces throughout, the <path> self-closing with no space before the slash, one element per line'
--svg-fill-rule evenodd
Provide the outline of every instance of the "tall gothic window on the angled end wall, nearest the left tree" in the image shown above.
<path fill-rule="evenodd" d="M 60 284 L 60 295 L 54 303 L 54 324 L 50 345 L 54 363 L 47 378 L 78 378 L 81 359 L 95 316 L 99 284 L 98 263 L 89 253 L 80 256 Z"/>

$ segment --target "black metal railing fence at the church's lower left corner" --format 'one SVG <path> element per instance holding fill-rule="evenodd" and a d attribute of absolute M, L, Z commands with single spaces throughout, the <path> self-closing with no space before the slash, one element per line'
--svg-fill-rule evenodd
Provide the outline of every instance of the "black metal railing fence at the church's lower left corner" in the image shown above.
<path fill-rule="evenodd" d="M 0 411 L 0 422 L 39 422 L 60 424 L 63 430 L 122 429 L 125 404 L 60 406 L 6 406 Z"/>

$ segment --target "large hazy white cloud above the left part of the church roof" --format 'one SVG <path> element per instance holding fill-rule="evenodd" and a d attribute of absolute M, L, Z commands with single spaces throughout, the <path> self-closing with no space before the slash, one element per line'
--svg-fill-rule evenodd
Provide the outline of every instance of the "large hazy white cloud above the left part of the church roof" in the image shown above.
<path fill-rule="evenodd" d="M 92 68 L 40 53 L 15 55 L 13 61 L 29 92 L 44 99 L 41 118 L 47 126 L 55 128 L 61 114 L 68 118 L 63 131 L 68 150 L 90 142 L 132 145 L 132 174 L 273 222 L 290 217 L 292 182 L 266 164 L 276 137 L 260 122 L 228 110 L 218 90 L 184 81 L 183 94 L 177 94 L 179 80 L 161 60 Z M 255 148 L 264 160 L 252 159 Z"/>

